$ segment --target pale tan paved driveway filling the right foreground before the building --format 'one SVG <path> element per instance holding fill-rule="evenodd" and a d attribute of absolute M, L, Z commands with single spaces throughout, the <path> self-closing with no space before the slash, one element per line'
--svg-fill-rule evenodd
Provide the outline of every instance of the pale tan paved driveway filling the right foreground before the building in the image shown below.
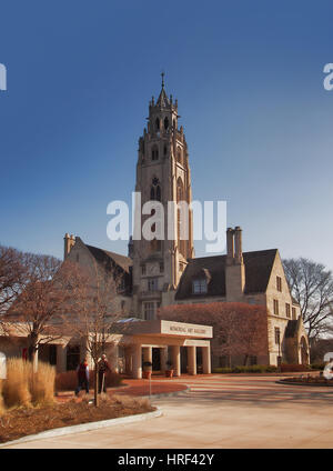
<path fill-rule="evenodd" d="M 333 388 L 276 384 L 278 379 L 172 379 L 191 392 L 154 399 L 160 418 L 8 448 L 333 448 Z"/>

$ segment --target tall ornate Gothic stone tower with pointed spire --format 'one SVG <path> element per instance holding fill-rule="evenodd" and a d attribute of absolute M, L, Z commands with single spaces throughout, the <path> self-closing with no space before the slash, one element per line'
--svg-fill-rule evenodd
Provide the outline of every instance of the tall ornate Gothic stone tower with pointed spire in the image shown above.
<path fill-rule="evenodd" d="M 183 127 L 178 128 L 179 118 L 178 101 L 173 102 L 172 96 L 167 96 L 162 73 L 159 99 L 155 102 L 152 97 L 148 126 L 139 139 L 137 164 L 135 192 L 141 193 L 138 216 L 141 227 L 154 214 L 142 216 L 142 206 L 147 201 L 160 201 L 164 209 L 164 240 L 142 237 L 133 240 L 133 311 L 142 319 L 154 319 L 161 305 L 173 301 L 186 261 L 194 257 L 192 211 L 185 211 L 185 219 L 189 218 L 186 239 L 181 236 L 180 209 L 175 209 L 173 223 L 168 227 L 168 202 L 190 204 L 192 201 L 188 146 Z M 155 229 L 153 226 L 152 230 Z"/>

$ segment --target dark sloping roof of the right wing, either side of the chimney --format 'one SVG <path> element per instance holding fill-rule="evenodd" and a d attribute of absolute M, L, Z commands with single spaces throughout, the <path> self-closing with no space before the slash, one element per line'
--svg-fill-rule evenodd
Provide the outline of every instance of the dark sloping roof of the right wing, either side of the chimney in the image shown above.
<path fill-rule="evenodd" d="M 265 292 L 278 249 L 244 252 L 245 294 Z M 190 259 L 179 283 L 175 299 L 198 298 L 192 293 L 192 280 L 202 277 L 206 270 L 211 277 L 206 297 L 225 297 L 226 255 L 202 257 Z"/>

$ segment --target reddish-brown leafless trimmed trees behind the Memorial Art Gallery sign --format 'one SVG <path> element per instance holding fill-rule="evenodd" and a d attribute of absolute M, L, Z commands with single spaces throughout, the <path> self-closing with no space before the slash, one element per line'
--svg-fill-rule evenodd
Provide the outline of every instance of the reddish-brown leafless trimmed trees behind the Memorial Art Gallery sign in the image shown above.
<path fill-rule="evenodd" d="M 268 313 L 263 305 L 240 302 L 209 304 L 173 304 L 159 311 L 159 318 L 213 327 L 212 351 L 225 355 L 243 355 L 246 364 L 251 355 L 268 353 Z"/>

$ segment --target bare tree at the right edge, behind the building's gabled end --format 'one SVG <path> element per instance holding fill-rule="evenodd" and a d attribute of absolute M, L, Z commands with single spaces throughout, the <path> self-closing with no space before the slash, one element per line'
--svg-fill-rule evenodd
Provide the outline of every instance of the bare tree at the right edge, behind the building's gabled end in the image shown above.
<path fill-rule="evenodd" d="M 310 341 L 326 333 L 333 321 L 333 277 L 321 263 L 289 259 L 283 267 L 291 293 L 301 307 Z"/>

